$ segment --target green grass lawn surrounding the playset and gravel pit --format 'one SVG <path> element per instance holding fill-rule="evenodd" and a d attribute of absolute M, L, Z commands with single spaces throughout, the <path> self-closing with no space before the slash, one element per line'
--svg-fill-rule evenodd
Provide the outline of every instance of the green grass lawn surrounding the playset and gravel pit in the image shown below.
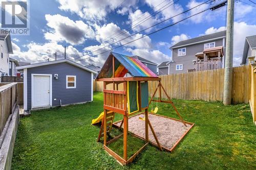
<path fill-rule="evenodd" d="M 99 126 L 91 125 L 103 110 L 102 96 L 95 92 L 92 103 L 20 119 L 12 169 L 256 169 L 256 127 L 248 104 L 174 100 L 183 118 L 195 123 L 193 129 L 173 153 L 148 145 L 132 164 L 121 166 L 96 142 Z M 158 107 L 159 114 L 178 118 L 170 105 Z M 128 142 L 130 156 L 143 145 L 132 136 Z M 110 147 L 122 155 L 122 138 Z"/>

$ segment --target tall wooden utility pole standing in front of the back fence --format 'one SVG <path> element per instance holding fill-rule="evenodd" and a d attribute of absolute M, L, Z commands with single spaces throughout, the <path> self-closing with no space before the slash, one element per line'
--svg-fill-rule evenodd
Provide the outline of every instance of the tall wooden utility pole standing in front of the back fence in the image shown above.
<path fill-rule="evenodd" d="M 227 31 L 225 51 L 225 74 L 223 104 L 231 104 L 232 67 L 233 67 L 234 0 L 227 1 Z"/>

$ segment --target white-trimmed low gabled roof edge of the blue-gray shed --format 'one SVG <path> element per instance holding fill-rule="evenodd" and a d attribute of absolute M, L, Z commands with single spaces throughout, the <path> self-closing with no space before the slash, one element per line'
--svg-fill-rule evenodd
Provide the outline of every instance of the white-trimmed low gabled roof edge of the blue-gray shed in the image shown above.
<path fill-rule="evenodd" d="M 39 67 L 39 66 L 50 65 L 50 64 L 57 64 L 57 63 L 63 63 L 63 62 L 72 64 L 72 65 L 77 66 L 77 67 L 79 67 L 81 69 L 84 69 L 84 70 L 93 72 L 94 74 L 97 74 L 96 71 L 94 71 L 94 70 L 92 70 L 90 68 L 84 67 L 81 64 L 78 64 L 78 63 L 76 63 L 74 61 L 71 61 L 69 59 L 62 59 L 62 60 L 56 60 L 56 61 L 48 61 L 48 62 L 41 62 L 41 63 L 36 63 L 36 64 L 29 64 L 29 65 L 24 65 L 24 66 L 18 66 L 18 67 L 16 67 L 16 69 L 17 70 L 21 70 L 21 69 L 24 69 L 24 68 L 33 68 L 33 67 Z"/>

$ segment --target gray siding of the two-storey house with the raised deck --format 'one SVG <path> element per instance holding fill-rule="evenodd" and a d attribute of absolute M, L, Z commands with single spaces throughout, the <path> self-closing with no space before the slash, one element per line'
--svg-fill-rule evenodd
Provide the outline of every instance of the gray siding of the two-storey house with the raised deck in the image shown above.
<path fill-rule="evenodd" d="M 184 46 L 186 48 L 186 55 L 185 56 L 178 56 L 178 49 L 184 48 L 173 48 L 173 61 L 170 63 L 170 74 L 177 74 L 177 73 L 183 73 L 187 72 L 188 69 L 193 69 L 194 64 L 193 60 L 196 59 L 195 54 L 199 52 L 203 52 L 204 50 L 204 44 L 209 42 L 215 42 L 215 46 L 222 46 L 223 45 L 223 39 L 214 40 L 214 41 L 207 41 L 200 44 L 194 44 L 189 46 Z M 225 50 L 224 50 L 225 51 Z M 176 70 L 177 64 L 183 64 L 183 70 Z"/>

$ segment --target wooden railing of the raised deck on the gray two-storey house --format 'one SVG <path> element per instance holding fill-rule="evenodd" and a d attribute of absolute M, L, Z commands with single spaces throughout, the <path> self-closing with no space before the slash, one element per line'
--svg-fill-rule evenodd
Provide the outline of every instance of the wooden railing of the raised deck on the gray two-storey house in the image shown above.
<path fill-rule="evenodd" d="M 212 70 L 222 68 L 222 61 L 220 59 L 217 60 L 206 60 L 195 63 L 196 71 L 204 71 L 204 70 Z"/>

